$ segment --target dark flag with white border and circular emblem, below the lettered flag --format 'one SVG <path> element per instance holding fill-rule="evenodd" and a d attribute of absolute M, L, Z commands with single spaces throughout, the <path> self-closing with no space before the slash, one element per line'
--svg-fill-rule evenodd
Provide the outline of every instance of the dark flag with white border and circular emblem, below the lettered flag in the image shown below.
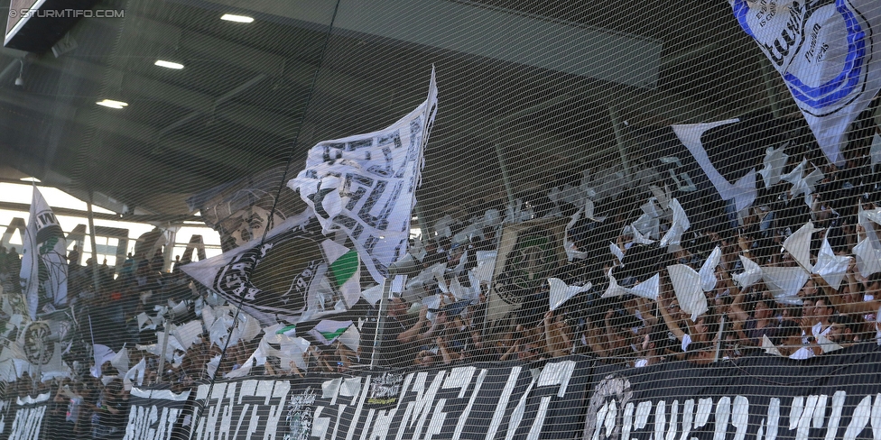
<path fill-rule="evenodd" d="M 335 298 L 320 224 L 308 213 L 288 218 L 260 238 L 207 260 L 181 266 L 193 280 L 265 326 L 296 324 L 329 313 L 322 298 Z M 339 272 L 342 275 L 344 272 Z M 348 280 L 348 279 L 346 279 Z"/>

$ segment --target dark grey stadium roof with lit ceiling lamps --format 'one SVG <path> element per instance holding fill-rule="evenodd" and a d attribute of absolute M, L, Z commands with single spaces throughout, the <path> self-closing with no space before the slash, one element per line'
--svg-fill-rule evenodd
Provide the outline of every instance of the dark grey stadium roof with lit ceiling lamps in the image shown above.
<path fill-rule="evenodd" d="M 143 0 L 92 9 L 125 16 L 80 19 L 58 56 L 0 50 L 0 178 L 92 192 L 126 214 L 188 214 L 191 194 L 289 159 L 295 174 L 315 142 L 385 127 L 422 102 L 432 64 L 440 106 L 417 193 L 429 218 L 504 198 L 503 177 L 522 192 L 609 160 L 626 167 L 636 142 L 624 126 L 779 112 L 774 96 L 788 102 L 726 2 Z M 96 105 L 104 99 L 127 106 Z"/>

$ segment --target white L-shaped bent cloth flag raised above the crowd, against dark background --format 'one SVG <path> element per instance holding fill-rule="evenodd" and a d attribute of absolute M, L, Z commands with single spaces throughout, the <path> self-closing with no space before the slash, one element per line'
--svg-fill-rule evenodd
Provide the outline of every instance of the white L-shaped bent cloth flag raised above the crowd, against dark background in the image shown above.
<path fill-rule="evenodd" d="M 703 170 L 704 174 L 707 175 L 707 179 L 713 184 L 713 187 L 719 191 L 719 197 L 722 197 L 723 200 L 733 198 L 737 211 L 740 211 L 752 205 L 756 200 L 756 169 L 749 170 L 745 176 L 731 184 L 719 173 L 719 170 L 716 170 L 713 163 L 709 161 L 709 155 L 703 148 L 703 142 L 700 141 L 700 136 L 707 130 L 719 127 L 720 125 L 738 122 L 740 122 L 739 119 L 728 119 L 727 121 L 709 124 L 672 125 L 671 128 L 673 133 L 676 133 L 676 136 L 682 141 L 682 144 L 685 145 L 685 148 L 694 156 L 694 160 L 697 160 L 700 170 Z"/>

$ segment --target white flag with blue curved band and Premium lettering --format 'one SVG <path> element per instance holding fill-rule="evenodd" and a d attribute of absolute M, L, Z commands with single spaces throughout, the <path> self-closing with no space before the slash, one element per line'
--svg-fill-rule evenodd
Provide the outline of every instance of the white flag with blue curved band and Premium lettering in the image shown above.
<path fill-rule="evenodd" d="M 728 3 L 783 76 L 826 157 L 844 165 L 848 127 L 881 89 L 877 0 Z"/>

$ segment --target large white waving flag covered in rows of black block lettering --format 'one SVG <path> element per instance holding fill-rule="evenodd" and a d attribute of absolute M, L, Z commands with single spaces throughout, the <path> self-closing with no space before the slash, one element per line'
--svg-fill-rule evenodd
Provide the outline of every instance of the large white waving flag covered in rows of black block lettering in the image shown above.
<path fill-rule="evenodd" d="M 422 151 L 437 104 L 432 69 L 422 105 L 384 130 L 319 142 L 306 169 L 288 182 L 315 210 L 325 234 L 348 234 L 377 283 L 407 252 Z"/>

